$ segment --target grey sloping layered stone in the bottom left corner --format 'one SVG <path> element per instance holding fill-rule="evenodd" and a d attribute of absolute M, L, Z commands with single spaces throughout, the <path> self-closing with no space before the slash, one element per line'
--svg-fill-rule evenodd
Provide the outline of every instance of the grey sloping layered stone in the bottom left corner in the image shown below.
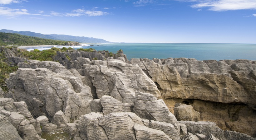
<path fill-rule="evenodd" d="M 15 139 L 15 140 L 22 140 L 19 136 L 16 128 L 10 124 L 10 122 L 6 119 L 4 115 L 0 114 L 0 139 Z"/>

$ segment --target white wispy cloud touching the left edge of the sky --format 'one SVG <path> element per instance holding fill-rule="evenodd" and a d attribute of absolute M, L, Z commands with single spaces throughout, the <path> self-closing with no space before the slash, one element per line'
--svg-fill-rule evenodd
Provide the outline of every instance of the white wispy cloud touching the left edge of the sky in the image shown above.
<path fill-rule="evenodd" d="M 8 7 L 0 7 L 0 16 L 15 17 L 20 15 L 40 15 L 28 13 L 27 9 L 11 9 Z"/>

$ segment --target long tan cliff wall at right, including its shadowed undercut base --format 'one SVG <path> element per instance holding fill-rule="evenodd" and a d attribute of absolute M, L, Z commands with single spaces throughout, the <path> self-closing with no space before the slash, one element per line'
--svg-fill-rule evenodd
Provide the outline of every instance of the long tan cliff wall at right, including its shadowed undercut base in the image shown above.
<path fill-rule="evenodd" d="M 200 113 L 201 120 L 214 121 L 222 129 L 256 135 L 255 115 L 251 113 L 256 109 L 256 61 L 132 58 L 130 63 L 138 64 L 152 78 L 170 111 L 176 103 L 189 103 Z M 193 100 L 206 102 L 193 105 Z M 210 104 L 220 108 L 212 109 Z"/>

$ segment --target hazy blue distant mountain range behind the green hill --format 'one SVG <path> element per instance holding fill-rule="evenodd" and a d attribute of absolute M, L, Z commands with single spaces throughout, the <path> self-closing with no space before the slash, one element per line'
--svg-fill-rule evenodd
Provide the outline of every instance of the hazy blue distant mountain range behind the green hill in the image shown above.
<path fill-rule="evenodd" d="M 44 35 L 40 33 L 30 32 L 30 31 L 14 31 L 14 30 L 0 30 L 2 33 L 16 33 L 20 35 L 34 36 L 43 39 L 51 39 L 51 40 L 63 40 L 63 41 L 77 41 L 79 43 L 114 43 L 109 42 L 103 39 L 93 38 L 93 37 L 84 37 L 84 36 L 72 36 L 72 35 Z"/>

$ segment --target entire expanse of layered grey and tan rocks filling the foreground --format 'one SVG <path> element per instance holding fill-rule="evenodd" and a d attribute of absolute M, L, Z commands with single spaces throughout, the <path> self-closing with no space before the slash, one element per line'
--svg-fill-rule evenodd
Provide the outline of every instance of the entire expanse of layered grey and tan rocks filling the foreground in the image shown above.
<path fill-rule="evenodd" d="M 129 61 L 121 50 L 18 60 L 0 89 L 0 139 L 256 139 L 256 61 Z"/>

